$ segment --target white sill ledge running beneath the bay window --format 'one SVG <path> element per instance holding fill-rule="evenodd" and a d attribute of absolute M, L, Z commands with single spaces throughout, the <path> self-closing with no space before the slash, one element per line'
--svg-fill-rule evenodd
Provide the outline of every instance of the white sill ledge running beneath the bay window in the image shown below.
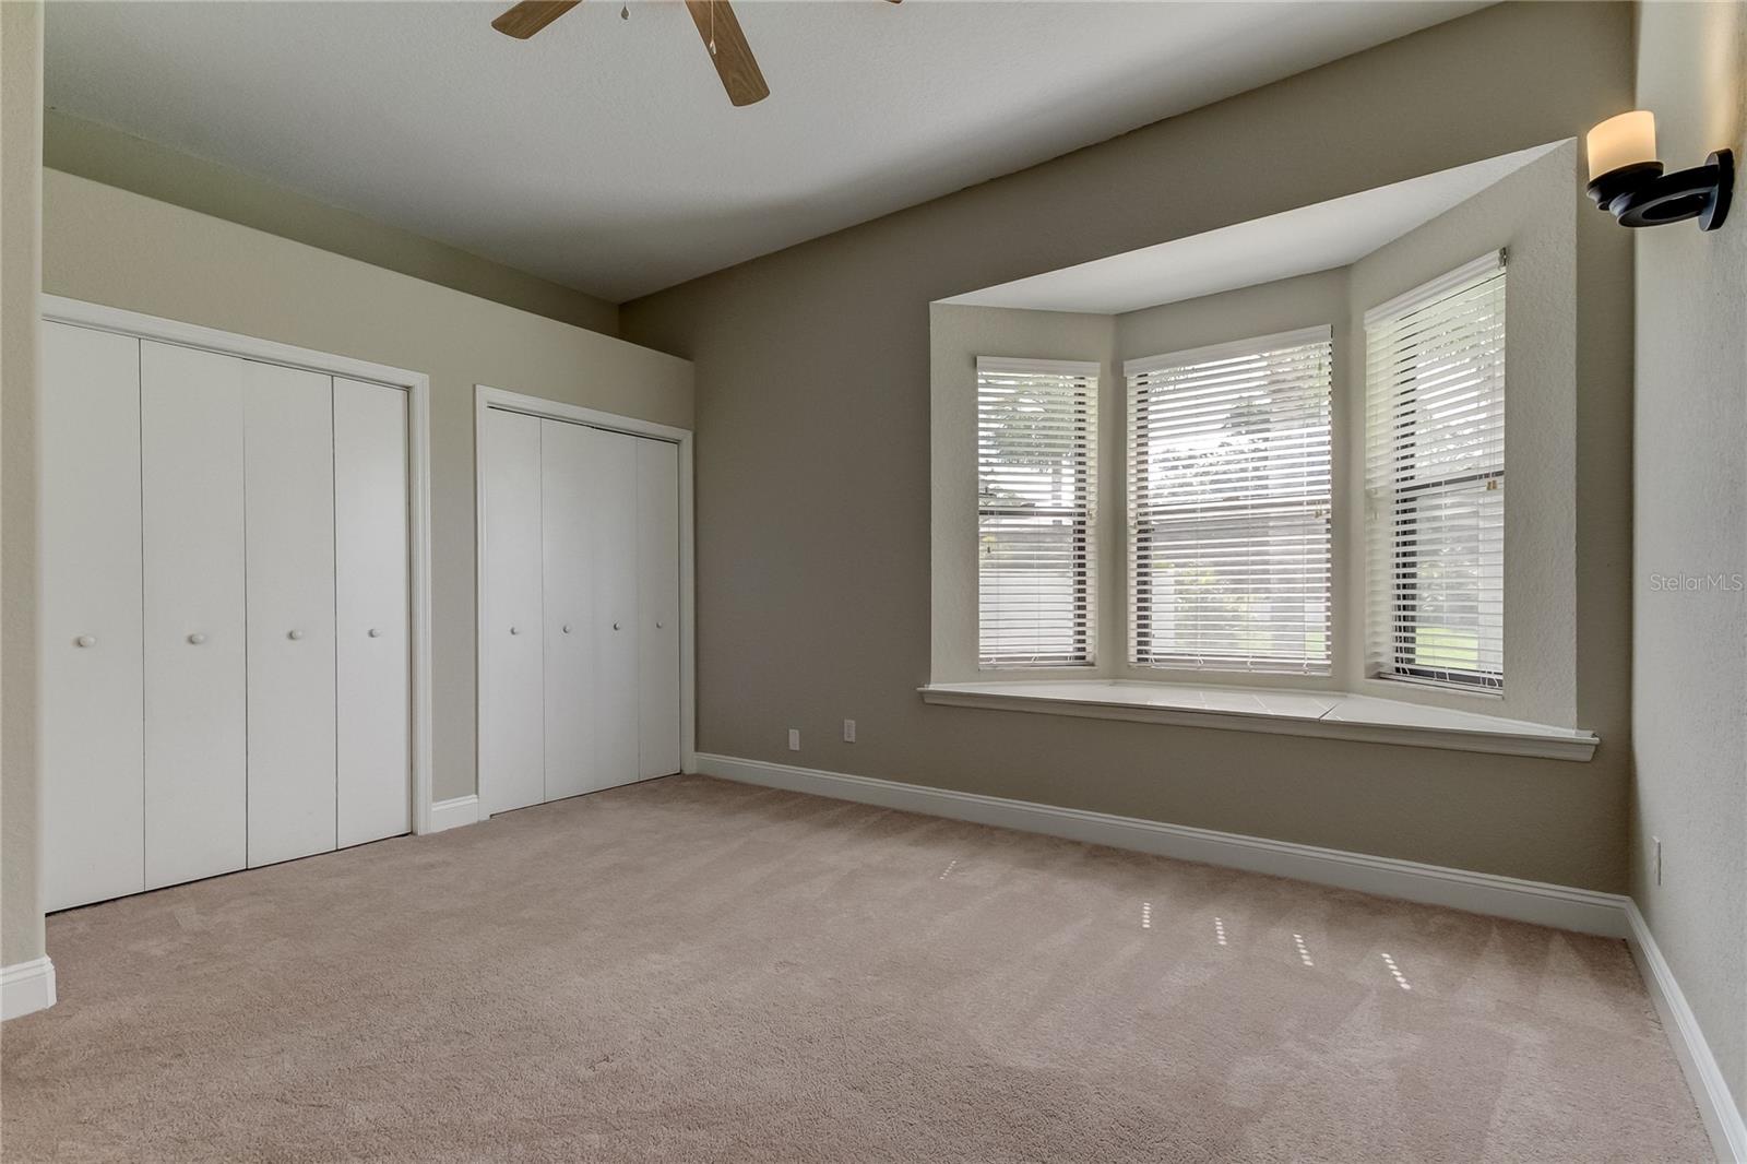
<path fill-rule="evenodd" d="M 1186 687 L 1111 680 L 929 683 L 919 690 L 924 703 L 956 708 L 1363 739 L 1412 748 L 1534 755 L 1550 760 L 1588 760 L 1600 743 L 1593 732 L 1581 729 L 1525 724 L 1338 690 Z"/>

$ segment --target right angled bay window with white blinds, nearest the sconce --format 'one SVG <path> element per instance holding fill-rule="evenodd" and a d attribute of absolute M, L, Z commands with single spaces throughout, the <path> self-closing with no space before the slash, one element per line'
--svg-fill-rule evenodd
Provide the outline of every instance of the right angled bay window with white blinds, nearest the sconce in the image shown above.
<path fill-rule="evenodd" d="M 1504 687 L 1504 253 L 1364 316 L 1370 673 Z"/>

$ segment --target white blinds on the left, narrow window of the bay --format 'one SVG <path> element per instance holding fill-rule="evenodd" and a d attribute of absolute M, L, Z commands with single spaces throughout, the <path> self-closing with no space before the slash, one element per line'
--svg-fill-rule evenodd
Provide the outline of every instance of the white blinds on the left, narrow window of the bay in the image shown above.
<path fill-rule="evenodd" d="M 977 605 L 985 668 L 1094 661 L 1097 364 L 977 360 Z"/>

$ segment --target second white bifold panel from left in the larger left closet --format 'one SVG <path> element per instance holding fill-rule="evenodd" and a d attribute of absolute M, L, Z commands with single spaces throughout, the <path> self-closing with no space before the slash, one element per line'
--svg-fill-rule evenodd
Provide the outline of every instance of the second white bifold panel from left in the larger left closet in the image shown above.
<path fill-rule="evenodd" d="M 140 343 L 148 890 L 246 862 L 241 381 Z"/>

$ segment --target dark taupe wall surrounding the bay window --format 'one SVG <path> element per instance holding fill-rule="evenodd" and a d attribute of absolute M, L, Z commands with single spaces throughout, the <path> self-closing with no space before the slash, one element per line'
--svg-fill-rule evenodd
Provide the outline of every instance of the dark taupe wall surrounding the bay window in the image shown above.
<path fill-rule="evenodd" d="M 1618 734 L 1592 764 L 1551 764 L 940 708 L 915 689 L 933 301 L 1579 136 L 1630 105 L 1628 7 L 1499 5 L 625 304 L 627 336 L 697 362 L 701 750 L 1623 888 Z M 1578 617 L 1599 627 L 1579 666 L 1623 690 L 1628 606 L 1597 572 L 1623 570 L 1630 521 L 1609 484 L 1628 419 L 1609 409 L 1630 381 L 1632 253 L 1600 222 L 1576 246 L 1579 280 L 1625 288 L 1579 318 L 1576 468 L 1599 496 L 1578 530 Z M 846 717 L 860 743 L 839 743 Z"/>

